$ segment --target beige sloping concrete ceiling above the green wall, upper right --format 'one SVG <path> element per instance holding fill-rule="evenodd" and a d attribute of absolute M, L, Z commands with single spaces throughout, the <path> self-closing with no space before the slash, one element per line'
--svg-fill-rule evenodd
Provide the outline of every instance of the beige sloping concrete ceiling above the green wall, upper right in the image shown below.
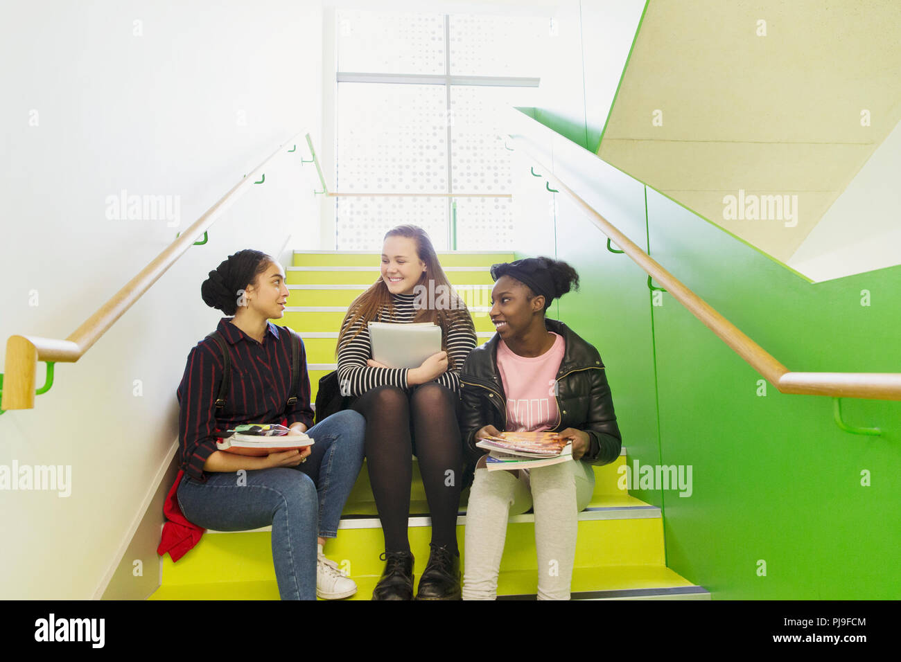
<path fill-rule="evenodd" d="M 899 224 L 897 206 L 850 204 L 792 263 L 899 121 L 898 0 L 650 0 L 597 153 L 824 280 L 901 264 L 884 247 L 842 266 L 842 242 L 878 247 Z M 901 185 L 887 163 L 870 183 Z"/>

